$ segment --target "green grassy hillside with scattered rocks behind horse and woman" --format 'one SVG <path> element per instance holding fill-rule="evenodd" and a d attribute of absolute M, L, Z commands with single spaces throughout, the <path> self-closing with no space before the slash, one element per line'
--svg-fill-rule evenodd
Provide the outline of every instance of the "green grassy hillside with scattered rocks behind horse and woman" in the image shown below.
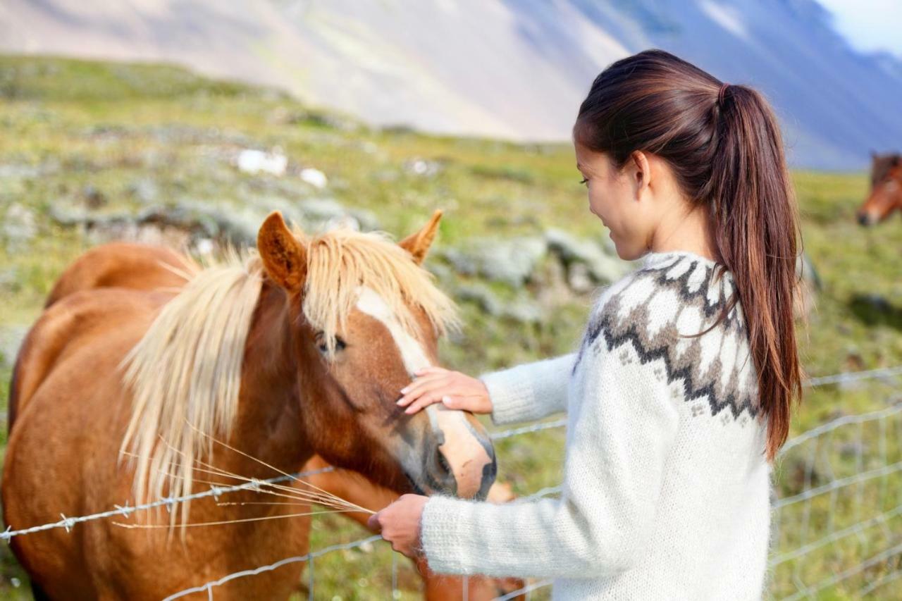
<path fill-rule="evenodd" d="M 284 176 L 235 168 L 242 149 L 276 147 L 289 160 Z M 301 180 L 304 168 L 325 173 L 327 186 Z M 377 130 L 278 92 L 165 66 L 0 57 L 0 331 L 14 337 L 30 324 L 63 267 L 97 241 L 96 232 L 61 225 L 53 216 L 63 209 L 108 216 L 191 202 L 240 212 L 331 199 L 368 211 L 380 227 L 402 236 L 443 208 L 440 253 L 487 237 L 540 236 L 548 227 L 603 240 L 606 232 L 588 213 L 579 179 L 566 144 Z M 794 180 L 805 252 L 822 282 L 808 327 L 799 329 L 805 370 L 819 375 L 902 365 L 902 219 L 870 230 L 854 222 L 867 191 L 864 173 L 796 172 Z M 451 273 L 440 280 L 456 286 L 479 278 Z M 523 290 L 477 283 L 502 300 L 548 296 L 536 282 Z M 479 373 L 565 352 L 575 344 L 589 301 L 579 294 L 545 298 L 541 319 L 526 322 L 492 317 L 464 301 L 465 329 L 444 343 L 443 355 L 449 365 Z M 894 388 L 897 381 L 872 381 L 810 391 L 794 431 L 886 406 Z M 557 484 L 561 448 L 559 431 L 503 441 L 502 479 L 519 494 Z M 359 532 L 338 519 L 322 520 L 312 548 L 353 540 Z M 389 578 L 383 547 L 321 560 L 323 594 L 366 598 L 366 591 L 384 590 L 378 588 Z M 8 553 L 4 561 L 4 590 L 16 596 L 22 589 L 11 588 L 10 578 L 23 574 Z M 371 564 L 383 569 L 368 576 Z M 416 590 L 406 563 L 400 578 L 403 589 Z"/>

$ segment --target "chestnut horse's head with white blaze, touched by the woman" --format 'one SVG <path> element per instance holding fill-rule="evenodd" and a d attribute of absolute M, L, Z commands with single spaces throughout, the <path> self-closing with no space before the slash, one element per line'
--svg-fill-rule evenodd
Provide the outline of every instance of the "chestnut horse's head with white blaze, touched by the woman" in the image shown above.
<path fill-rule="evenodd" d="M 308 239 L 274 212 L 257 247 L 266 277 L 287 294 L 301 428 L 315 452 L 396 492 L 484 498 L 496 465 L 480 422 L 441 405 L 407 415 L 396 404 L 418 369 L 437 364 L 437 339 L 456 324 L 421 266 L 439 217 L 394 244 L 349 230 Z"/>

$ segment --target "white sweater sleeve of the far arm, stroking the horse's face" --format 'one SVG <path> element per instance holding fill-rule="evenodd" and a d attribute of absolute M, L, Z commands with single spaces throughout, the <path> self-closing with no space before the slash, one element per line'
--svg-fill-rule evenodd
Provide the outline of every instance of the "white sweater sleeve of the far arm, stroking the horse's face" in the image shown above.
<path fill-rule="evenodd" d="M 566 411 L 567 382 L 575 357 L 572 353 L 481 375 L 492 400 L 492 423 L 538 420 Z"/>

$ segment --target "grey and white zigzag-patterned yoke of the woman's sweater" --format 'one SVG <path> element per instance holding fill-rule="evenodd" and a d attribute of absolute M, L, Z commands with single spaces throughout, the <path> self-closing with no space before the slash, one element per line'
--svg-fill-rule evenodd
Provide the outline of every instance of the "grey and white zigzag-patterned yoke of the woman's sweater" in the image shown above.
<path fill-rule="evenodd" d="M 729 409 L 733 419 L 742 411 L 757 416 L 758 388 L 741 305 L 732 274 L 721 268 L 694 254 L 650 257 L 600 299 L 574 372 L 587 350 L 596 356 L 601 351 L 599 337 L 609 351 L 631 343 L 642 364 L 664 359 L 664 372 L 658 368 L 656 377 L 681 383 L 686 402 L 707 400 L 710 415 Z M 630 360 L 625 352 L 620 358 Z"/>

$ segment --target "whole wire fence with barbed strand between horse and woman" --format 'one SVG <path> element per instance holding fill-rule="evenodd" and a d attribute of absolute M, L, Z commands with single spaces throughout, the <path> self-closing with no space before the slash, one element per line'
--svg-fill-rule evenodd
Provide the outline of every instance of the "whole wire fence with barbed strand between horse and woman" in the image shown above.
<path fill-rule="evenodd" d="M 806 386 L 851 384 L 880 379 L 895 384 L 902 366 L 866 372 L 851 372 L 811 378 Z M 561 429 L 566 420 L 546 421 L 522 428 L 492 433 L 501 440 L 543 430 Z M 158 501 L 129 506 L 116 505 L 106 512 L 67 517 L 60 520 L 0 532 L 0 539 L 63 528 L 69 532 L 79 523 L 110 517 L 129 517 L 137 512 L 204 498 L 228 495 L 236 491 L 260 490 L 276 484 L 331 471 L 333 467 L 299 472 L 291 476 L 252 479 L 241 485 L 216 486 L 192 495 L 166 497 Z M 902 598 L 902 398 L 892 399 L 886 409 L 860 415 L 848 415 L 824 423 L 787 441 L 775 463 L 772 500 L 771 556 L 769 558 L 769 596 L 795 600 L 817 598 L 825 590 L 841 587 L 847 596 Z M 560 493 L 560 486 L 543 488 L 515 502 Z M 166 597 L 166 601 L 198 593 L 214 598 L 216 587 L 237 578 L 249 578 L 289 564 L 304 564 L 308 596 L 315 598 L 315 559 L 372 546 L 382 541 L 379 535 L 343 542 L 306 555 L 281 559 L 272 564 L 245 569 L 190 587 Z M 400 598 L 398 556 L 391 554 L 391 597 Z M 536 580 L 524 587 L 498 596 L 494 601 L 523 596 L 549 587 L 550 580 Z M 464 582 L 463 598 L 466 599 Z"/>

